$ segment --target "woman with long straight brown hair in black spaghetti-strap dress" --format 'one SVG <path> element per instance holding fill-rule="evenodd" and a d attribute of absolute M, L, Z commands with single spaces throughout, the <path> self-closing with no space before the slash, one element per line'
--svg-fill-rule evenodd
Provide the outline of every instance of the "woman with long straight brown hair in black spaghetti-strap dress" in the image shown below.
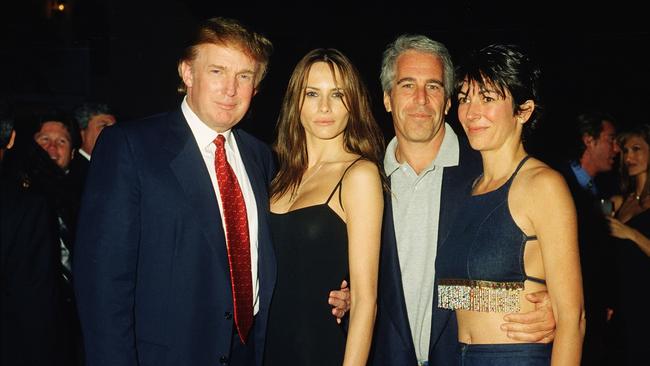
<path fill-rule="evenodd" d="M 358 72 L 334 49 L 295 67 L 274 144 L 277 280 L 264 364 L 365 365 L 375 321 L 383 136 Z M 327 295 L 350 281 L 347 334 Z"/>

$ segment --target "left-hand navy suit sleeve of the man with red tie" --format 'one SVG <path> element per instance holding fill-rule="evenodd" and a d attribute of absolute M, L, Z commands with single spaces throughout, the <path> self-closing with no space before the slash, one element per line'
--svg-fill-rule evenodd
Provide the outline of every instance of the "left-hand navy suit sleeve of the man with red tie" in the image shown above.
<path fill-rule="evenodd" d="M 88 172 L 74 261 L 88 366 L 137 365 L 134 291 L 140 184 L 135 165 L 124 129 L 105 129 Z"/>

